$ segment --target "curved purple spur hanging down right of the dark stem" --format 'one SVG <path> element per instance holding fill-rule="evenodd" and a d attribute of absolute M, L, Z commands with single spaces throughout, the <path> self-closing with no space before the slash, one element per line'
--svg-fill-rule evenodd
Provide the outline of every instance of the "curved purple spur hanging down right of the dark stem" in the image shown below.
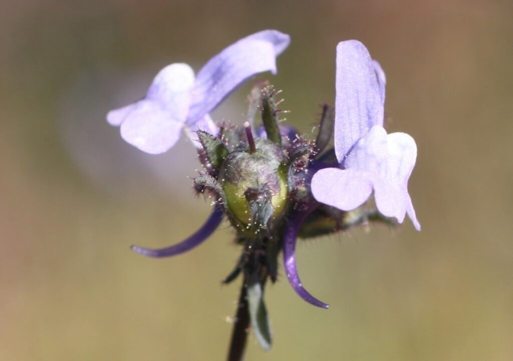
<path fill-rule="evenodd" d="M 285 231 L 283 232 L 283 264 L 290 286 L 292 286 L 295 293 L 309 304 L 327 309 L 329 305 L 321 302 L 305 290 L 295 265 L 295 242 L 298 239 L 299 228 L 312 210 L 313 207 L 305 211 L 295 211 L 290 217 L 289 223 L 285 226 Z"/>

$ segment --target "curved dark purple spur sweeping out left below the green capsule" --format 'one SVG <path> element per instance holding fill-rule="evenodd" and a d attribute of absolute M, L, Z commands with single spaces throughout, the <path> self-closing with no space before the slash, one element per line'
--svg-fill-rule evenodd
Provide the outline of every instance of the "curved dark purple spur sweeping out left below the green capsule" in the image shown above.
<path fill-rule="evenodd" d="M 220 205 L 215 205 L 212 214 L 208 217 L 207 221 L 201 228 L 194 232 L 190 237 L 186 238 L 182 242 L 172 245 L 166 248 L 160 249 L 149 249 L 139 246 L 131 246 L 130 249 L 136 253 L 139 253 L 146 257 L 152 258 L 163 258 L 171 257 L 177 254 L 181 254 L 199 246 L 206 240 L 223 220 L 223 208 Z"/>

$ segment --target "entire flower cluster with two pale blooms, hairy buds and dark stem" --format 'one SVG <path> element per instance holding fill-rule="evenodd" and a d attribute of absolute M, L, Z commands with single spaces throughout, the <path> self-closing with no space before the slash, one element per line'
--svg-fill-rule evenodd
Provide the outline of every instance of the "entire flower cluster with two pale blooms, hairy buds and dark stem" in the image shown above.
<path fill-rule="evenodd" d="M 279 125 L 280 92 L 267 83 L 252 90 L 243 125 L 212 121 L 208 113 L 249 77 L 276 73 L 275 60 L 289 42 L 275 30 L 252 34 L 215 55 L 197 76 L 187 64 L 171 64 L 156 75 L 142 100 L 107 114 L 125 141 L 147 153 L 169 150 L 182 130 L 198 150 L 204 173 L 194 179 L 194 188 L 214 195 L 212 214 L 181 243 L 132 250 L 149 257 L 180 254 L 207 239 L 223 218 L 229 220 L 243 248 L 224 280 L 243 276 L 229 359 L 242 357 L 241 332 L 248 327 L 264 349 L 270 348 L 263 293 L 267 280 L 277 279 L 280 251 L 294 291 L 328 308 L 301 283 L 298 237 L 367 222 L 393 225 L 393 218 L 402 223 L 406 213 L 420 230 L 407 190 L 417 146 L 408 134 L 387 134 L 383 128 L 385 74 L 362 43 L 337 46 L 335 106 L 323 106 L 315 141 Z"/>

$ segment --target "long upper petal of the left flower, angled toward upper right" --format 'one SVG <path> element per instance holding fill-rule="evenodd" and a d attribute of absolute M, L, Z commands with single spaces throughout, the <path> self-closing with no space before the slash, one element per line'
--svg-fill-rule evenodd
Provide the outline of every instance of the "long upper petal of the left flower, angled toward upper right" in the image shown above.
<path fill-rule="evenodd" d="M 248 77 L 264 71 L 276 73 L 276 57 L 289 43 L 288 35 L 264 30 L 239 40 L 211 58 L 196 77 L 188 124 L 202 119 Z"/>

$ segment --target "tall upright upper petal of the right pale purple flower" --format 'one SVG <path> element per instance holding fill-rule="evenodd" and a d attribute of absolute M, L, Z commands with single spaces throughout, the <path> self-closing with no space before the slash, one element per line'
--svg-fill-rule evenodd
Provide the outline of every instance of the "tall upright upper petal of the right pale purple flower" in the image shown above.
<path fill-rule="evenodd" d="M 351 147 L 374 125 L 383 125 L 383 101 L 372 59 L 356 40 L 337 46 L 335 150 L 343 164 Z"/>

